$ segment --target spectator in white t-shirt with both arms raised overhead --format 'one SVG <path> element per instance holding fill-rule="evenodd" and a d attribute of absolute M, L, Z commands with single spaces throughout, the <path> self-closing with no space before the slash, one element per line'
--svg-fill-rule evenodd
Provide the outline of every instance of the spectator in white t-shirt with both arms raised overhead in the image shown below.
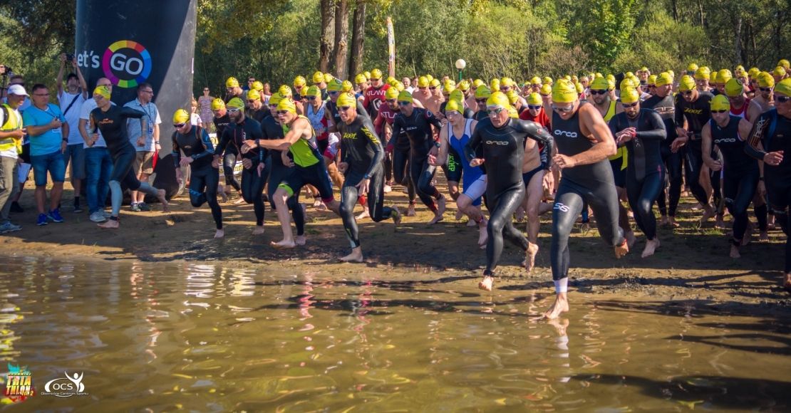
<path fill-rule="evenodd" d="M 60 70 L 55 83 L 58 84 L 58 103 L 66 123 L 69 124 L 68 145 L 66 152 L 63 152 L 63 163 L 65 168 L 71 163 L 71 186 L 74 187 L 74 212 L 82 212 L 80 205 L 80 194 L 82 193 L 82 181 L 85 179 L 85 141 L 80 135 L 80 107 L 85 99 L 88 99 L 88 84 L 82 77 L 80 67 L 72 58 L 70 65 L 77 73 L 69 73 L 66 77 L 66 90 L 63 90 L 63 69 L 66 67 L 66 54 L 60 55 Z M 71 161 L 71 162 L 69 162 Z"/>

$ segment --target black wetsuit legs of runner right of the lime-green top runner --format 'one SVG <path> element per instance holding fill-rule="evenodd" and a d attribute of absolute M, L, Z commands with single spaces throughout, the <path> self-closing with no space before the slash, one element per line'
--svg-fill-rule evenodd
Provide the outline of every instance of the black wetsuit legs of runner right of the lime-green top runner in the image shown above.
<path fill-rule="evenodd" d="M 357 227 L 357 220 L 354 219 L 354 205 L 359 198 L 357 185 L 361 180 L 362 175 L 350 173 L 346 175 L 343 180 L 343 188 L 341 188 L 339 212 L 343 220 L 343 229 L 346 231 L 346 237 L 349 238 L 352 248 L 360 246 L 360 231 Z M 384 203 L 384 171 L 381 169 L 371 175 L 366 196 L 368 197 L 368 212 L 373 222 L 387 220 L 392 216 L 393 209 L 382 206 Z"/>

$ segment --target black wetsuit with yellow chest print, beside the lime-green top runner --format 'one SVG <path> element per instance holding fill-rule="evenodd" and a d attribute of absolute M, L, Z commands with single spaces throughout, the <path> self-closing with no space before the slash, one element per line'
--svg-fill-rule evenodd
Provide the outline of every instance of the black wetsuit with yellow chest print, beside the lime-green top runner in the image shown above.
<path fill-rule="evenodd" d="M 357 221 L 354 220 L 354 204 L 358 200 L 357 186 L 363 179 L 370 179 L 368 185 L 368 211 L 374 222 L 387 220 L 392 216 L 392 208 L 384 208 L 384 171 L 382 158 L 384 148 L 373 130 L 373 122 L 367 116 L 358 116 L 354 122 L 338 125 L 341 134 L 341 162 L 348 167 L 343 174 L 341 189 L 340 216 L 343 228 L 352 248 L 360 246 Z"/>

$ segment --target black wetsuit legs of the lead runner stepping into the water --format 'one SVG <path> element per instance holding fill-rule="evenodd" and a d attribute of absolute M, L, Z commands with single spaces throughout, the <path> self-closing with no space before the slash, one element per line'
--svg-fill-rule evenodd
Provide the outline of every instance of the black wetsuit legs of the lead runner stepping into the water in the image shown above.
<path fill-rule="evenodd" d="M 597 182 L 596 188 L 588 189 L 561 178 L 558 194 L 552 208 L 551 263 L 552 280 L 569 276 L 571 256 L 569 236 L 577 216 L 580 216 L 585 201 L 596 216 L 596 227 L 604 242 L 609 246 L 623 244 L 623 230 L 618 226 L 618 193 L 615 185 Z"/>

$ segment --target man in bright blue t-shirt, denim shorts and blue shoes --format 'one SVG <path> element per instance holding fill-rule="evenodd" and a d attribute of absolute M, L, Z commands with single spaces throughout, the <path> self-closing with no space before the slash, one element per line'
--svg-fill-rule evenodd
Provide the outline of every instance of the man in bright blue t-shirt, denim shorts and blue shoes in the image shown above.
<path fill-rule="evenodd" d="M 60 197 L 66 177 L 66 152 L 69 141 L 69 124 L 63 117 L 60 107 L 49 102 L 49 89 L 44 84 L 34 84 L 33 104 L 22 114 L 25 128 L 30 137 L 30 160 L 33 165 L 33 178 L 36 180 L 36 208 L 39 218 L 36 225 L 47 225 L 49 221 L 63 222 L 60 216 Z M 47 172 L 52 178 L 50 207 L 44 209 L 47 201 Z"/>

